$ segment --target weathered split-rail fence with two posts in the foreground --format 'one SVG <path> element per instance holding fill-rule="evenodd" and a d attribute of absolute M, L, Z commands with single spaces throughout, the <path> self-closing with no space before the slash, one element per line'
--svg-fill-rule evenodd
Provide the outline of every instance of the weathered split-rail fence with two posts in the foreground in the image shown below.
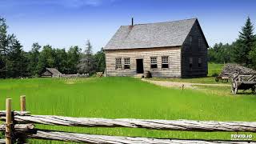
<path fill-rule="evenodd" d="M 97 134 L 77 134 L 58 130 L 40 130 L 34 124 L 82 127 L 130 127 L 150 130 L 186 130 L 186 131 L 234 131 L 256 132 L 256 122 L 214 122 L 192 120 L 151 120 L 151 119 L 107 119 L 107 118 L 71 118 L 54 115 L 31 115 L 26 111 L 26 98 L 21 96 L 21 111 L 11 110 L 11 99 L 6 99 L 6 110 L 0 111 L 0 118 L 6 124 L 0 125 L 0 131 L 6 131 L 8 144 L 24 143 L 27 138 L 58 140 L 66 142 L 88 143 L 256 143 L 255 141 L 225 141 L 199 139 L 163 139 L 133 138 Z"/>

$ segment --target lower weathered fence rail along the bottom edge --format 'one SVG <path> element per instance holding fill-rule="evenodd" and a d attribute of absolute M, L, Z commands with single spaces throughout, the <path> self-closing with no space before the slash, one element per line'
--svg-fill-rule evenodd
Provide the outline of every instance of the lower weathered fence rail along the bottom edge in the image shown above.
<path fill-rule="evenodd" d="M 86 142 L 86 143 L 163 143 L 163 144 L 245 144 L 249 142 L 234 142 L 234 141 L 219 141 L 219 140 L 183 140 L 183 139 L 158 139 L 158 138 L 132 138 L 132 137 L 122 137 L 122 136 L 106 136 L 106 135 L 96 135 L 96 134 L 74 134 L 50 130 L 37 130 L 36 134 L 29 134 L 28 138 L 35 139 L 45 139 L 45 140 L 57 140 L 66 142 Z M 255 144 L 256 142 L 250 142 L 250 144 Z"/>

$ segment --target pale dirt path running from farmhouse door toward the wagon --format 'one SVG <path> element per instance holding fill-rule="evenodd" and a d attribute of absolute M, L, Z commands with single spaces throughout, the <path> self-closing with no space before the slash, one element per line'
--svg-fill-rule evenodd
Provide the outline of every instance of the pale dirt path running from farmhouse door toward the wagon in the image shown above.
<path fill-rule="evenodd" d="M 189 88 L 189 89 L 197 89 L 198 86 L 230 86 L 227 84 L 205 84 L 205 83 L 190 83 L 190 82 L 170 82 L 170 81 L 153 81 L 150 79 L 142 78 L 144 82 L 150 82 L 158 86 L 165 87 L 177 87 L 177 88 Z"/>

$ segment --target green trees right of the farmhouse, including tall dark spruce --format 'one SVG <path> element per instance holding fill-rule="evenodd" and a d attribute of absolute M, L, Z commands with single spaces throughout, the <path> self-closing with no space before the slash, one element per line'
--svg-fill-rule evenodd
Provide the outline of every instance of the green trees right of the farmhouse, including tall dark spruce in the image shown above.
<path fill-rule="evenodd" d="M 256 69 L 256 36 L 254 25 L 248 17 L 239 31 L 238 38 L 231 44 L 216 43 L 208 50 L 208 61 L 216 63 L 238 63 Z"/>

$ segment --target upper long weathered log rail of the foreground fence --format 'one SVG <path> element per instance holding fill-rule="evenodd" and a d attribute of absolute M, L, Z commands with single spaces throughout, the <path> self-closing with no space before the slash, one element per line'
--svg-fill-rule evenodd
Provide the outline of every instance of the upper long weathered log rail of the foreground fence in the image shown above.
<path fill-rule="evenodd" d="M 2 117 L 4 118 L 4 117 Z M 214 122 L 194 120 L 71 118 L 54 115 L 15 116 L 18 123 L 84 127 L 131 127 L 154 130 L 247 131 L 256 132 L 256 122 Z"/>

